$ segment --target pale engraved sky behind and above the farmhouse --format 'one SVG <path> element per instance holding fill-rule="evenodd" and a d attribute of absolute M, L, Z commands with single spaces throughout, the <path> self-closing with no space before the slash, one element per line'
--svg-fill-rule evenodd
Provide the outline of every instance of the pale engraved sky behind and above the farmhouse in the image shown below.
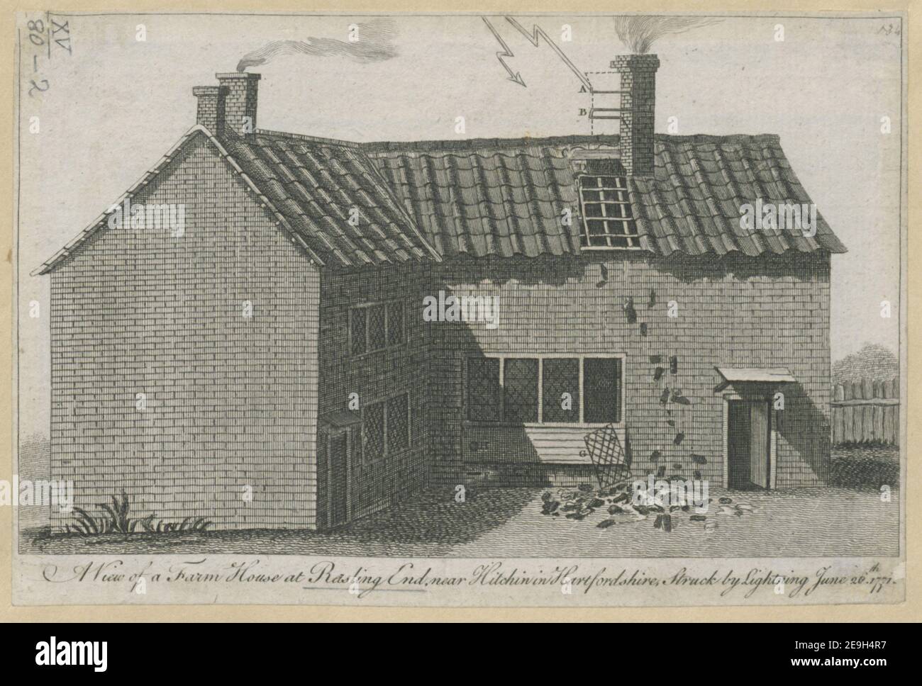
<path fill-rule="evenodd" d="M 35 44 L 43 38 L 30 39 L 26 21 L 36 18 L 47 22 L 36 14 L 20 23 L 21 435 L 47 434 L 49 404 L 48 319 L 30 317 L 33 302 L 47 308 L 49 278 L 29 273 L 195 124 L 194 86 L 215 85 L 215 73 L 234 71 L 270 41 L 348 45 L 350 26 L 371 17 L 56 17 L 53 38 L 62 43 L 50 57 L 47 44 Z M 545 41 L 536 47 L 490 17 L 513 53 L 503 62 L 523 87 L 507 78 L 496 55 L 503 48 L 481 17 L 391 18 L 389 59 L 295 52 L 251 67 L 262 75 L 258 127 L 354 141 L 591 133 L 580 80 Z M 604 71 L 629 52 L 613 17 L 516 18 L 546 31 L 582 72 Z M 832 258 L 833 361 L 864 343 L 898 349 L 902 51 L 898 20 L 881 17 L 724 17 L 651 50 L 660 60 L 657 133 L 672 122 L 678 134 L 779 135 L 845 243 L 848 253 Z M 883 300 L 890 319 L 881 318 Z"/>

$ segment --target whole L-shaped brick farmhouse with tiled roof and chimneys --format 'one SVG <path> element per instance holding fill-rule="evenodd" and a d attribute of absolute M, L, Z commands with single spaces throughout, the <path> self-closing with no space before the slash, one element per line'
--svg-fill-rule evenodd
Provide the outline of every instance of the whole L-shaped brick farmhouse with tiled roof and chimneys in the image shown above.
<path fill-rule="evenodd" d="M 52 288 L 52 478 L 219 529 L 329 529 L 430 484 L 638 473 L 825 483 L 830 269 L 774 135 L 654 134 L 656 55 L 619 57 L 618 134 L 351 143 L 256 128 L 260 76 L 36 270 Z M 100 199 L 101 200 L 101 199 Z M 124 223 L 123 223 L 124 224 Z M 424 318 L 427 297 L 495 318 Z M 66 515 L 53 513 L 54 524 Z"/>

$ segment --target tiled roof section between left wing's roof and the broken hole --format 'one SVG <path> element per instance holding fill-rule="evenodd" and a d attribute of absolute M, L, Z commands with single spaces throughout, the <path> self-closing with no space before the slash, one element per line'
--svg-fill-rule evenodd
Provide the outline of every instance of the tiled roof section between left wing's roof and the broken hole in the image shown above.
<path fill-rule="evenodd" d="M 587 138 L 586 140 L 592 140 Z M 364 145 L 443 257 L 578 253 L 573 138 Z M 573 208 L 571 226 L 561 222 Z"/>

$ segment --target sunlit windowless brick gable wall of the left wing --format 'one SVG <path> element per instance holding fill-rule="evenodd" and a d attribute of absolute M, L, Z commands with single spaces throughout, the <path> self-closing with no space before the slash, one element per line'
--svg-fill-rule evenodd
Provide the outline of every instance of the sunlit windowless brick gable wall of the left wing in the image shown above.
<path fill-rule="evenodd" d="M 318 273 L 203 136 L 133 202 L 184 203 L 184 235 L 106 227 L 52 273 L 52 478 L 91 511 L 315 526 Z"/>

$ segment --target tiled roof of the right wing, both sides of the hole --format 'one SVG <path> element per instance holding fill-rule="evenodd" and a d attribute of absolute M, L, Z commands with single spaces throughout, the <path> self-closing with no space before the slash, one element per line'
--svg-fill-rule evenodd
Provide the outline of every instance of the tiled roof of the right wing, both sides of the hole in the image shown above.
<path fill-rule="evenodd" d="M 580 251 L 575 147 L 617 136 L 367 144 L 372 157 L 443 256 L 559 255 Z M 740 206 L 810 203 L 774 135 L 656 136 L 651 178 L 628 178 L 642 250 L 659 255 L 844 252 L 818 213 L 816 235 L 739 226 Z"/>

